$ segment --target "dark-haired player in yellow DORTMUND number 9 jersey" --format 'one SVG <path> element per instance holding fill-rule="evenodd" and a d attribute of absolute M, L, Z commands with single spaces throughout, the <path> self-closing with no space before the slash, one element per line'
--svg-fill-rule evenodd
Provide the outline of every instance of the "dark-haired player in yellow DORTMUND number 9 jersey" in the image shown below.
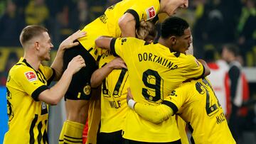
<path fill-rule="evenodd" d="M 161 25 L 159 43 L 147 43 L 137 38 L 95 40 L 100 48 L 119 55 L 127 65 L 129 84 L 135 101 L 158 105 L 165 96 L 190 78 L 210 73 L 206 62 L 185 55 L 191 44 L 191 30 L 181 18 L 167 18 Z M 124 122 L 125 143 L 181 143 L 175 118 L 156 125 L 130 110 Z"/>

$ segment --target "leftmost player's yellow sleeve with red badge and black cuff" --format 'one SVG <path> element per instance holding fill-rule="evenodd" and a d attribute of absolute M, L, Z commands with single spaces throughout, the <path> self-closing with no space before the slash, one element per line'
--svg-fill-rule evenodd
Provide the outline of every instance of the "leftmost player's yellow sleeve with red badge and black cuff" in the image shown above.
<path fill-rule="evenodd" d="M 48 89 L 48 87 L 38 79 L 36 72 L 26 67 L 17 69 L 16 72 L 14 72 L 13 77 L 15 81 L 21 85 L 24 91 L 32 96 L 35 101 L 38 101 L 38 96 L 41 92 Z"/>

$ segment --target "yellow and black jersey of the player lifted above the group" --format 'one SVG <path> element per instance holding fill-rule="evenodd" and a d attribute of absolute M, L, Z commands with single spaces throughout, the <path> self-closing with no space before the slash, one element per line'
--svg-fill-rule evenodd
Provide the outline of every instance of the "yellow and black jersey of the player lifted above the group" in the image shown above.
<path fill-rule="evenodd" d="M 82 46 L 90 51 L 90 54 L 95 57 L 101 55 L 100 49 L 96 48 L 95 40 L 101 35 L 111 36 L 114 38 L 121 37 L 121 31 L 118 25 L 119 18 L 124 13 L 131 13 L 135 20 L 136 26 L 139 26 L 139 21 L 142 19 L 148 21 L 157 18 L 159 13 L 159 0 L 124 0 L 107 8 L 105 13 L 99 18 L 89 23 L 82 31 L 87 32 L 87 36 L 80 38 Z"/>

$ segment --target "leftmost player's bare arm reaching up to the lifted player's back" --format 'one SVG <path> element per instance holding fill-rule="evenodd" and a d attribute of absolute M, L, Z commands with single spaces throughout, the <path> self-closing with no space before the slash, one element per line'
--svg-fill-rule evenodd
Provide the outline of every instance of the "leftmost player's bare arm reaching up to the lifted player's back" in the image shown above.
<path fill-rule="evenodd" d="M 73 33 L 73 35 L 70 35 L 67 39 L 63 40 L 63 42 L 60 44 L 57 55 L 53 60 L 53 64 L 50 66 L 55 70 L 54 80 L 59 80 L 61 75 L 63 74 L 63 54 L 65 52 L 65 49 L 72 48 L 75 45 L 79 45 L 78 42 L 74 43 L 74 40 L 84 37 L 85 34 L 85 32 L 79 30 Z"/>

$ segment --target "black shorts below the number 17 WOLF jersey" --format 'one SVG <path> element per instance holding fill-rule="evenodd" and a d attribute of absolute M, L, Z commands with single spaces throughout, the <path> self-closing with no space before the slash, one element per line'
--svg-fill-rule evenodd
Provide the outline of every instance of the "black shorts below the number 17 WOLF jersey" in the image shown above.
<path fill-rule="evenodd" d="M 122 138 L 122 131 L 115 131 L 113 133 L 98 133 L 97 144 L 122 144 L 124 138 Z"/>

